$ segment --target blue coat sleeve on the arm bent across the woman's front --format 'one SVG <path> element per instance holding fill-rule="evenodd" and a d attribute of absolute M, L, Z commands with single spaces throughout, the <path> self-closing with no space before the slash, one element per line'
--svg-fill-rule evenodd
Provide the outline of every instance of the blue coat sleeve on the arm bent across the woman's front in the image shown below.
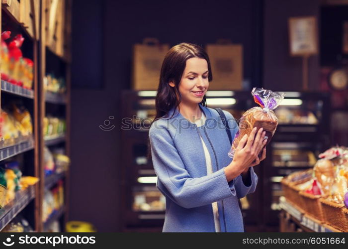
<path fill-rule="evenodd" d="M 158 176 L 157 187 L 165 196 L 184 208 L 200 207 L 236 196 L 233 183 L 227 182 L 224 169 L 192 178 L 168 129 L 155 126 L 152 125 L 149 130 L 151 155 Z"/>

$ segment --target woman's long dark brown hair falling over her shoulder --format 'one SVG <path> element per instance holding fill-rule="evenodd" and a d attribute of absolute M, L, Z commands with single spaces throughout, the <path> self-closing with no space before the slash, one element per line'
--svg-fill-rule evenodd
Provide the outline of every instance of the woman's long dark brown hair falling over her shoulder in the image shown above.
<path fill-rule="evenodd" d="M 162 117 L 168 118 L 169 111 L 172 108 L 179 108 L 181 102 L 181 95 L 178 89 L 179 83 L 186 67 L 186 61 L 193 57 L 207 61 L 209 72 L 208 81 L 212 81 L 213 75 L 210 60 L 202 47 L 192 43 L 180 43 L 172 47 L 166 54 L 161 67 L 160 82 L 156 95 L 156 117 L 154 121 Z M 169 85 L 171 81 L 174 82 L 174 87 Z M 205 95 L 201 104 L 207 106 Z M 151 160 L 150 139 L 148 141 L 148 159 Z"/>

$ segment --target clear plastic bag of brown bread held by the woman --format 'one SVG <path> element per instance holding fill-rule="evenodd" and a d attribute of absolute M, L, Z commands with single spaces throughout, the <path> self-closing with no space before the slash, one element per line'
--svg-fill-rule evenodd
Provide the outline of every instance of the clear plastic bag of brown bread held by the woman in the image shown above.
<path fill-rule="evenodd" d="M 249 109 L 239 120 L 239 129 L 228 153 L 231 158 L 234 156 L 239 141 L 245 134 L 249 136 L 254 127 L 257 127 L 258 130 L 262 127 L 263 130 L 266 131 L 264 139 L 267 139 L 267 145 L 278 125 L 278 119 L 273 110 L 280 105 L 284 99 L 285 93 L 272 92 L 263 88 L 254 88 L 252 95 L 254 96 L 254 101 L 259 104 L 260 107 Z"/>

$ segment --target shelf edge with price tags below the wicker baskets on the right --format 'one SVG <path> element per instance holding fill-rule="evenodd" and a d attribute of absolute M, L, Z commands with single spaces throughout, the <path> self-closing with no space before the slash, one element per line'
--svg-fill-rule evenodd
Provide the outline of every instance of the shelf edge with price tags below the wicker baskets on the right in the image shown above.
<path fill-rule="evenodd" d="M 307 232 L 339 232 L 326 224 L 320 223 L 309 215 L 303 214 L 300 210 L 287 202 L 284 196 L 279 198 L 279 202 L 281 209 L 289 213 L 294 218 L 293 220 L 298 223 L 299 226 L 304 227 Z"/>

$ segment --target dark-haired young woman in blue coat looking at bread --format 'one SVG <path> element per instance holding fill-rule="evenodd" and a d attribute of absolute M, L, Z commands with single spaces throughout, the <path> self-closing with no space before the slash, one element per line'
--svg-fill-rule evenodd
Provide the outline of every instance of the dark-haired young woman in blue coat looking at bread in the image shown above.
<path fill-rule="evenodd" d="M 149 131 L 157 187 L 166 197 L 163 232 L 243 232 L 238 198 L 255 191 L 253 166 L 265 158 L 262 128 L 245 135 L 232 160 L 219 114 L 206 107 L 210 62 L 199 46 L 181 43 L 167 53 Z M 228 119 L 232 137 L 238 124 Z"/>

